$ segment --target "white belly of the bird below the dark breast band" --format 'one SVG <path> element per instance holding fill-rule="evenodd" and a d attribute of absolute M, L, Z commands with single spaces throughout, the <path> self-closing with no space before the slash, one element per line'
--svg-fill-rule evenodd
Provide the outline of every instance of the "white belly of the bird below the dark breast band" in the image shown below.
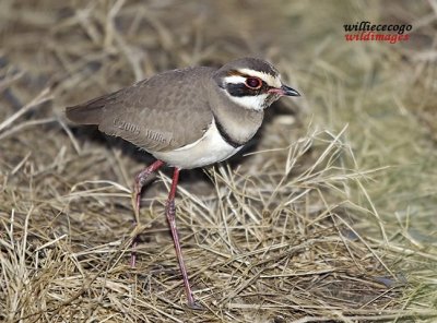
<path fill-rule="evenodd" d="M 153 153 L 153 156 L 169 166 L 190 169 L 225 160 L 241 147 L 235 148 L 225 142 L 213 120 L 200 140 L 173 152 Z"/>

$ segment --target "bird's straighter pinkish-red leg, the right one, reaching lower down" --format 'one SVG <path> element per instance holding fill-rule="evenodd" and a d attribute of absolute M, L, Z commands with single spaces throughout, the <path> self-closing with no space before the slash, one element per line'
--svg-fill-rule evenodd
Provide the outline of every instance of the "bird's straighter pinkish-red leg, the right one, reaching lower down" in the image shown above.
<path fill-rule="evenodd" d="M 200 310 L 200 309 L 202 309 L 202 307 L 196 302 L 194 297 L 191 291 L 190 282 L 188 280 L 187 268 L 185 267 L 182 251 L 180 249 L 179 236 L 178 236 L 178 231 L 176 228 L 175 194 L 176 194 L 176 188 L 177 188 L 178 180 L 179 180 L 179 169 L 175 168 L 175 172 L 173 174 L 172 188 L 170 188 L 170 192 L 168 194 L 168 201 L 167 201 L 167 207 L 166 207 L 165 214 L 167 216 L 168 225 L 170 226 L 173 241 L 175 243 L 175 249 L 176 249 L 176 256 L 179 262 L 180 273 L 182 274 L 185 292 L 187 295 L 187 300 L 188 300 L 188 307 L 190 307 L 191 309 L 194 309 L 194 310 Z"/>

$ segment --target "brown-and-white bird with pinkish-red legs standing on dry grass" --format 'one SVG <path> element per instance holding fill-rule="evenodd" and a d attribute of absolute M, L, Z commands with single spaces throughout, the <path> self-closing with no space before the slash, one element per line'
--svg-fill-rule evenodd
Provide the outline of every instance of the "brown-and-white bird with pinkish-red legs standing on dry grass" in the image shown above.
<path fill-rule="evenodd" d="M 119 136 L 156 162 L 134 179 L 132 207 L 140 220 L 142 188 L 164 165 L 174 168 L 165 207 L 189 308 L 201 309 L 190 287 L 176 227 L 175 195 L 181 169 L 223 162 L 253 137 L 264 110 L 282 96 L 300 94 L 285 85 L 270 62 L 253 57 L 220 68 L 190 67 L 161 72 L 110 94 L 66 108 L 67 118 Z M 132 242 L 132 249 L 135 246 Z M 135 258 L 132 255 L 131 265 Z"/>

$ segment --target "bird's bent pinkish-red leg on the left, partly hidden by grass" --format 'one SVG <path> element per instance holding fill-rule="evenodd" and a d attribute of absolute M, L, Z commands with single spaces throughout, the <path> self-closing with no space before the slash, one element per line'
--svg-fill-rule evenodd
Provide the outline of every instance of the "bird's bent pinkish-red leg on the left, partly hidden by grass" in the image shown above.
<path fill-rule="evenodd" d="M 132 206 L 133 206 L 133 212 L 135 214 L 135 225 L 138 225 L 140 223 L 141 190 L 142 190 L 143 186 L 145 184 L 149 176 L 152 172 L 158 170 L 163 165 L 164 165 L 164 162 L 156 160 L 155 163 L 153 163 L 149 167 L 144 168 L 135 177 L 135 183 L 133 186 L 133 193 L 132 193 Z M 135 262 L 137 262 L 137 252 L 135 252 L 137 243 L 138 243 L 137 237 L 134 237 L 133 241 L 132 241 L 132 253 L 131 253 L 131 256 L 130 256 L 130 265 L 132 267 L 135 266 Z"/>

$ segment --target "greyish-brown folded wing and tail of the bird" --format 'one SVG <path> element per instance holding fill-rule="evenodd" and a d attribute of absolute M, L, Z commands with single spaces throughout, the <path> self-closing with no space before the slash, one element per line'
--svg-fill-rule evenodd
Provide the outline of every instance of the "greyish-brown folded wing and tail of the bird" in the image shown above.
<path fill-rule="evenodd" d="M 67 117 L 83 124 L 98 124 L 151 153 L 193 143 L 208 130 L 213 116 L 206 88 L 214 70 L 174 70 L 129 87 L 69 107 Z"/>

